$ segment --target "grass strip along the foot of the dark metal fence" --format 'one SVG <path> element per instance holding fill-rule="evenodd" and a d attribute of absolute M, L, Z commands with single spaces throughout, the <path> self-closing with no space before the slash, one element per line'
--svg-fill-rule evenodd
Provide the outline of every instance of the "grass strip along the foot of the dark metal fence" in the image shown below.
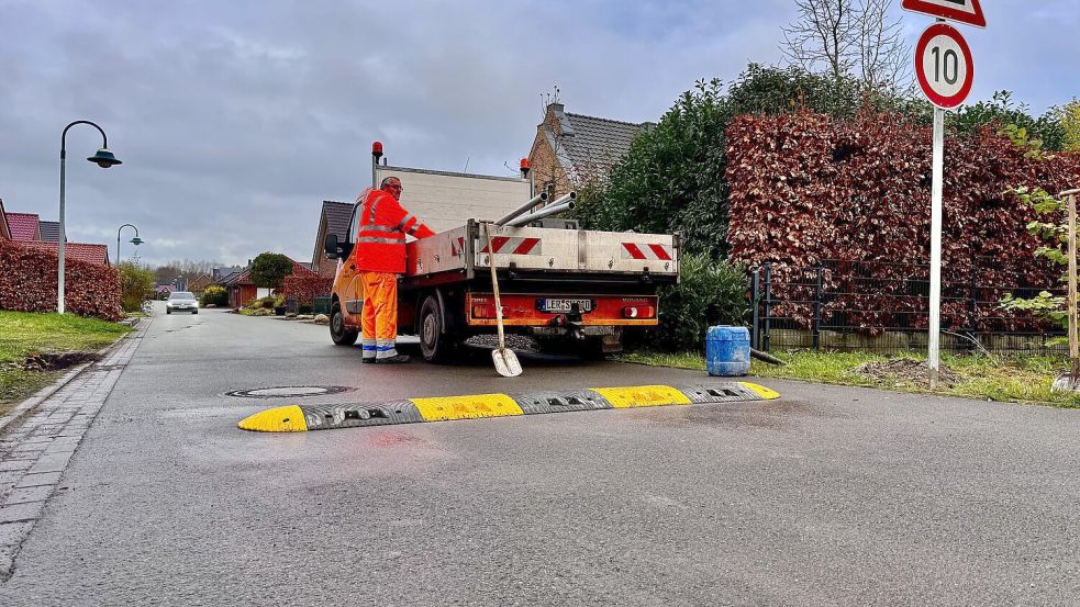
<path fill-rule="evenodd" d="M 1050 391 L 1057 373 L 1066 368 L 1060 357 L 984 357 L 984 356 L 942 356 L 942 364 L 957 375 L 949 386 L 931 391 L 921 382 L 904 376 L 872 376 L 856 371 L 867 362 L 888 362 L 900 356 L 883 356 L 867 352 L 772 352 L 784 361 L 776 367 L 754 360 L 750 374 L 761 378 L 802 380 L 837 385 L 858 385 L 879 387 L 897 392 L 917 394 L 944 394 L 980 400 L 1043 403 L 1060 407 L 1080 408 L 1080 394 L 1062 394 Z M 925 361 L 926 355 L 908 352 L 903 358 Z M 659 353 L 633 352 L 621 355 L 616 360 L 677 369 L 705 370 L 705 359 L 698 352 Z"/>

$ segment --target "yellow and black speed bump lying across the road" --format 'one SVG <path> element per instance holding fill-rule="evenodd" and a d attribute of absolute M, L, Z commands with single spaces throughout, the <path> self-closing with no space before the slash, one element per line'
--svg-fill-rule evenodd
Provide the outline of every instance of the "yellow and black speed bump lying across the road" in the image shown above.
<path fill-rule="evenodd" d="M 779 397 L 779 393 L 748 382 L 688 387 L 670 385 L 594 387 L 513 395 L 468 394 L 375 404 L 289 405 L 256 413 L 241 420 L 238 426 L 245 430 L 261 432 L 303 432 L 569 411 L 771 401 Z"/>

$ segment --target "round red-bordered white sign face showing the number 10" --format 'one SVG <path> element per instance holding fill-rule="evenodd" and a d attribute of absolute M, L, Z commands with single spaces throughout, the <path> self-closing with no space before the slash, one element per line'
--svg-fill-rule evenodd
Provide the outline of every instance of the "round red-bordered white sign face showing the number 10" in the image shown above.
<path fill-rule="evenodd" d="M 975 64 L 956 27 L 936 23 L 923 32 L 915 46 L 915 76 L 934 105 L 950 110 L 964 103 L 971 92 Z"/>

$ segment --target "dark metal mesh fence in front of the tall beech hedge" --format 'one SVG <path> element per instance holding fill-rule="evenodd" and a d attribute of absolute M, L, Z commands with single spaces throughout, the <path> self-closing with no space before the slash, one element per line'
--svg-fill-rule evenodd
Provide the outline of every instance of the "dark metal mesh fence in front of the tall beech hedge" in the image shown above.
<path fill-rule="evenodd" d="M 1053 323 L 1001 307 L 1006 294 L 1031 297 L 1060 288 L 995 284 L 975 260 L 964 277 L 942 282 L 942 350 L 965 353 L 1064 352 Z M 750 273 L 755 347 L 902 352 L 927 347 L 929 266 L 827 260 L 814 267 L 766 263 Z"/>

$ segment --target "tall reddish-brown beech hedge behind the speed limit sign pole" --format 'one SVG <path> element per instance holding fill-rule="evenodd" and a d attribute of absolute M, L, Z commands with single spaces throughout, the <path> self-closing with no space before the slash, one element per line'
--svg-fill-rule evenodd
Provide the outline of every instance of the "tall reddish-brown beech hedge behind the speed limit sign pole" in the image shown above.
<path fill-rule="evenodd" d="M 914 294 L 913 265 L 929 262 L 932 131 L 900 116 L 837 121 L 799 112 L 743 115 L 727 130 L 733 261 L 772 262 L 775 280 L 800 282 L 819 265 L 823 286 L 840 293 L 824 314 L 847 315 L 876 333 L 909 318 L 926 325 L 925 297 Z M 1025 157 L 989 128 L 949 133 L 945 153 L 942 280 L 997 302 L 1016 289 L 1056 288 L 1058 266 L 1034 257 L 1027 233 L 1034 211 L 1005 194 L 1017 186 L 1058 192 L 1080 186 L 1080 157 Z M 858 271 L 854 271 L 857 268 Z M 922 278 L 925 280 L 925 276 Z M 811 299 L 789 286 L 778 299 Z M 811 305 L 776 311 L 809 323 Z M 993 319 L 993 326 L 990 321 Z M 904 323 L 899 323 L 903 325 Z M 943 304 L 943 326 L 976 330 L 1034 328 L 997 305 Z"/>

